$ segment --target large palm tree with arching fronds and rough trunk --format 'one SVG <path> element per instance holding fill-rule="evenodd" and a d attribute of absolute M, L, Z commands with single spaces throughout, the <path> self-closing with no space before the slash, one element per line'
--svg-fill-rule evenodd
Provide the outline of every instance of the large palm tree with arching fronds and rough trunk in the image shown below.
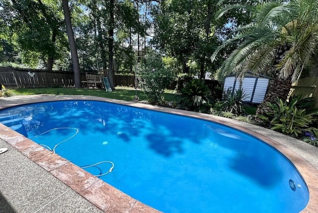
<path fill-rule="evenodd" d="M 229 5 L 219 15 L 239 6 Z M 268 92 L 257 109 L 258 114 L 263 114 L 269 110 L 268 102 L 274 103 L 277 97 L 287 99 L 292 82 L 306 68 L 318 68 L 313 65 L 318 53 L 318 4 L 316 0 L 261 2 L 252 9 L 254 21 L 240 27 L 234 38 L 219 46 L 212 60 L 221 49 L 239 41 L 221 69 L 224 73 L 237 72 L 239 77 L 247 71 L 271 76 Z"/>

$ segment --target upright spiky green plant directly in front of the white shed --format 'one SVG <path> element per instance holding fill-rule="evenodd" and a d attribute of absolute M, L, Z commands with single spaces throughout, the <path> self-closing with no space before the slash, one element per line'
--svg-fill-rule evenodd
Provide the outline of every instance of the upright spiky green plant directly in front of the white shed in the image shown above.
<path fill-rule="evenodd" d="M 231 112 L 235 115 L 241 115 L 245 112 L 245 109 L 243 107 L 242 100 L 245 97 L 244 91 L 239 88 L 235 90 L 235 92 L 227 94 L 225 97 L 224 105 L 223 105 L 223 111 Z"/>

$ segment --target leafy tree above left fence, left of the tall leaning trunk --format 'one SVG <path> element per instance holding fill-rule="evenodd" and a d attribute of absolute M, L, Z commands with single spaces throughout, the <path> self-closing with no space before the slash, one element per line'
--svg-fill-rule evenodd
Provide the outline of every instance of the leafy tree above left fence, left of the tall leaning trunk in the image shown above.
<path fill-rule="evenodd" d="M 52 70 L 54 60 L 62 56 L 60 51 L 63 48 L 57 47 L 64 42 L 64 22 L 56 5 L 59 5 L 56 0 L 3 2 L 4 8 L 11 14 L 7 19 L 11 36 L 15 34 L 23 58 L 27 57 L 24 61 L 30 60 L 30 57 L 41 59 L 48 70 Z"/>

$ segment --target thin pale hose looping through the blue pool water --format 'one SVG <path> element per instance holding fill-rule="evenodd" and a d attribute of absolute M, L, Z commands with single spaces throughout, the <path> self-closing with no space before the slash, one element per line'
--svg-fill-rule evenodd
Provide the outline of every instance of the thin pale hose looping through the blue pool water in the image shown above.
<path fill-rule="evenodd" d="M 63 140 L 63 141 L 57 143 L 57 144 L 53 147 L 53 149 L 52 149 L 50 146 L 48 146 L 48 145 L 39 143 L 39 145 L 42 145 L 43 147 L 45 147 L 45 148 L 47 148 L 48 150 L 52 151 L 53 153 L 57 154 L 56 151 L 55 151 L 55 149 L 56 149 L 59 145 L 61 145 L 62 143 L 64 143 L 64 142 L 66 142 L 66 141 L 72 139 L 73 137 L 75 137 L 75 136 L 79 133 L 79 129 L 73 128 L 73 127 L 59 127 L 59 128 L 53 128 L 53 129 L 51 129 L 51 130 L 45 131 L 44 133 L 41 133 L 41 134 L 38 135 L 38 136 L 35 136 L 35 137 L 31 138 L 30 140 L 32 140 L 32 139 L 34 139 L 34 138 L 37 138 L 37 137 L 39 137 L 39 136 L 42 136 L 42 135 L 44 135 L 44 134 L 46 134 L 46 133 L 49 133 L 49 132 L 51 132 L 51 131 L 54 131 L 54 130 L 65 130 L 65 129 L 76 130 L 76 133 L 75 133 L 74 135 L 72 135 L 71 137 L 69 137 L 69 138 L 67 138 L 67 139 L 65 139 L 65 140 Z M 3 149 L 3 150 L 4 150 L 4 149 L 7 150 L 7 148 L 0 148 L 0 154 L 6 151 L 6 150 L 4 150 L 3 152 L 1 152 L 2 149 Z M 101 177 L 101 176 L 107 175 L 107 174 L 109 174 L 110 172 L 113 171 L 113 169 L 114 169 L 114 167 L 115 167 L 115 165 L 114 165 L 113 162 L 108 161 L 108 160 L 105 160 L 105 161 L 100 161 L 100 162 L 98 162 L 98 163 L 94 163 L 94 164 L 91 164 L 91 165 L 79 166 L 79 167 L 82 168 L 82 169 L 85 169 L 85 168 L 97 166 L 97 165 L 102 164 L 102 163 L 110 163 L 112 166 L 110 167 L 110 169 L 109 169 L 107 172 L 105 172 L 105 173 L 103 173 L 103 174 L 99 174 L 99 175 L 94 175 L 95 177 Z"/>

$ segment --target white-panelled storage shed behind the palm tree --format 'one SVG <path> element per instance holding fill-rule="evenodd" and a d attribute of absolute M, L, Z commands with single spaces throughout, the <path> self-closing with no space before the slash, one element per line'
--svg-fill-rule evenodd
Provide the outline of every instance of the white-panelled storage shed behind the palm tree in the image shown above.
<path fill-rule="evenodd" d="M 245 93 L 243 99 L 246 103 L 259 104 L 265 97 L 267 92 L 269 77 L 265 75 L 255 76 L 250 72 L 247 72 L 244 78 L 238 78 L 236 74 L 227 75 L 225 77 L 223 91 L 227 91 L 229 88 L 232 93 L 239 89 L 241 81 L 241 88 Z"/>

